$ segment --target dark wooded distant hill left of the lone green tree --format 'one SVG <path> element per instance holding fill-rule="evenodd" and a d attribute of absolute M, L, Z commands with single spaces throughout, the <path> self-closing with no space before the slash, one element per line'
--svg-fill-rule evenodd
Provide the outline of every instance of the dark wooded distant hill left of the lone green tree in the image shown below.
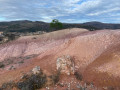
<path fill-rule="evenodd" d="M 11 21 L 0 22 L 0 31 L 35 32 L 48 30 L 49 24 L 41 21 Z"/>

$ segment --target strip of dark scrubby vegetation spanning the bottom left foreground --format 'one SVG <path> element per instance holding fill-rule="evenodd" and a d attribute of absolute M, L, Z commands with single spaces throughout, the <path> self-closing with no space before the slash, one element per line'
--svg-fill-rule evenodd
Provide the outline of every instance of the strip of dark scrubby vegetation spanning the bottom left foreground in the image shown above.
<path fill-rule="evenodd" d="M 30 74 L 24 74 L 18 82 L 12 81 L 12 82 L 4 83 L 2 87 L 0 87 L 0 90 L 13 90 L 13 88 L 16 88 L 17 90 L 41 89 L 46 86 L 55 85 L 59 81 L 59 75 L 60 73 L 56 73 L 51 76 L 47 76 L 40 69 L 39 73 L 33 72 Z"/>

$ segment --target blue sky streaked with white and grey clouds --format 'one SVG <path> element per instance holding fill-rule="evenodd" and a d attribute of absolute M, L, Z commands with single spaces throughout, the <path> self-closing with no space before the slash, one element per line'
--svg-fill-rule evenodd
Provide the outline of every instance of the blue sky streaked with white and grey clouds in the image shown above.
<path fill-rule="evenodd" d="M 120 0 L 0 0 L 0 22 L 120 23 Z"/>

